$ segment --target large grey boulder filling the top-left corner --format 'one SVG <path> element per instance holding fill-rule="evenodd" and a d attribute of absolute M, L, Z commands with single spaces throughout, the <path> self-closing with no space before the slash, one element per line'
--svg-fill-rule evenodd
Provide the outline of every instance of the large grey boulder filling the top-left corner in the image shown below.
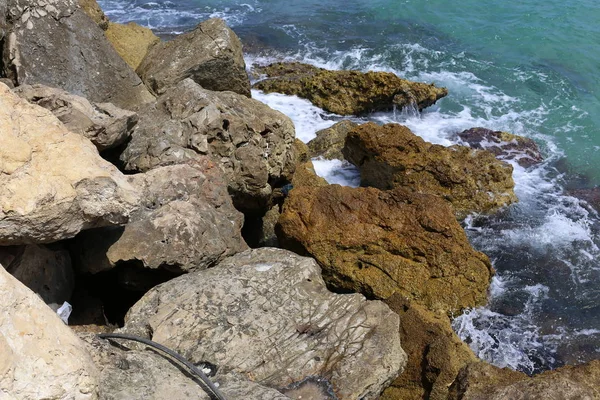
<path fill-rule="evenodd" d="M 61 88 L 132 109 L 153 100 L 77 0 L 9 0 L 3 73 L 18 85 Z"/>

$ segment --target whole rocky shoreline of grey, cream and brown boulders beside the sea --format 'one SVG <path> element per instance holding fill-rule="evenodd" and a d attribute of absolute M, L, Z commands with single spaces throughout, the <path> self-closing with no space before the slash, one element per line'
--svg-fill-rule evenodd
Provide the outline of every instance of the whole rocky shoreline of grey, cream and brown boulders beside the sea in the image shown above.
<path fill-rule="evenodd" d="M 494 273 L 460 221 L 517 201 L 502 160 L 540 162 L 534 142 L 342 121 L 304 144 L 251 98 L 219 19 L 162 42 L 94 0 L 0 0 L 0 51 L 0 397 L 210 398 L 95 335 L 116 331 L 206 367 L 228 399 L 600 398 L 596 361 L 528 377 L 450 325 Z M 390 73 L 254 73 L 340 115 L 449 95 Z M 361 187 L 327 184 L 317 156 L 356 165 Z"/>

